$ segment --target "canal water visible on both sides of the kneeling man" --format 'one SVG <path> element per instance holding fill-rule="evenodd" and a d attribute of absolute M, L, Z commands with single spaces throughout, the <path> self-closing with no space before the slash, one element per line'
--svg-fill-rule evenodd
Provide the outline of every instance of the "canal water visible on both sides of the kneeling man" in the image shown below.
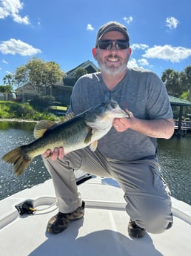
<path fill-rule="evenodd" d="M 0 200 L 24 188 L 50 179 L 41 157 L 36 157 L 20 177 L 1 157 L 19 145 L 34 140 L 33 122 L 0 122 Z M 191 133 L 186 137 L 158 140 L 158 159 L 172 196 L 191 205 Z"/>

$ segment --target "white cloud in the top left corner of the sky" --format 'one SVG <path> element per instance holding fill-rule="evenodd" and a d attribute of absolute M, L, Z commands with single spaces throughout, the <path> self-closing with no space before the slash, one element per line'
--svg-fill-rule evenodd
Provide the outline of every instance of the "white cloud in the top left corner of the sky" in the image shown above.
<path fill-rule="evenodd" d="M 21 17 L 19 15 L 23 7 L 24 4 L 20 0 L 0 0 L 0 19 L 11 16 L 14 22 L 30 24 L 28 16 Z"/>

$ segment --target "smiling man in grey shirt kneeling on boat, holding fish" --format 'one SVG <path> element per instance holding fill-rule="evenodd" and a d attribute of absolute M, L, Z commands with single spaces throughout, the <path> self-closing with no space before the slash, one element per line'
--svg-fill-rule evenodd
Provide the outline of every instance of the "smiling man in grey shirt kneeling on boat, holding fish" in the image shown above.
<path fill-rule="evenodd" d="M 115 119 L 95 152 L 90 148 L 67 155 L 64 148 L 44 152 L 59 209 L 47 225 L 48 232 L 62 232 L 71 220 L 84 215 L 73 171 L 78 169 L 118 181 L 127 201 L 130 236 L 143 237 L 146 231 L 161 233 L 172 226 L 170 191 L 161 177 L 155 139 L 172 136 L 172 110 L 167 91 L 155 73 L 127 68 L 130 54 L 130 37 L 123 24 L 108 22 L 98 30 L 93 56 L 101 72 L 78 79 L 69 111 L 79 114 L 111 97 L 130 112 L 130 118 Z"/>

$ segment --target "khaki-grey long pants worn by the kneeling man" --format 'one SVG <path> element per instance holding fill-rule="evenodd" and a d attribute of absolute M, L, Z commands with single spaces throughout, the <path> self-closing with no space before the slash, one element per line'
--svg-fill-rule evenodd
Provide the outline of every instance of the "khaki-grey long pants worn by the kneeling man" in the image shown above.
<path fill-rule="evenodd" d="M 131 220 L 148 232 L 161 233 L 172 222 L 170 190 L 161 177 L 156 160 L 118 161 L 103 156 L 98 150 L 73 151 L 64 160 L 44 159 L 53 178 L 58 209 L 63 213 L 81 205 L 73 170 L 81 169 L 101 177 L 113 177 L 124 191 L 126 211 Z"/>

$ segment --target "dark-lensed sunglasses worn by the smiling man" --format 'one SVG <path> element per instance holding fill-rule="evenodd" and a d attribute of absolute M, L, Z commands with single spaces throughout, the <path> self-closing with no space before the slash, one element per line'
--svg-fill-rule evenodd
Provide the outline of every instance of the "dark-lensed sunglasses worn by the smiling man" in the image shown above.
<path fill-rule="evenodd" d="M 130 46 L 129 42 L 127 42 L 126 40 L 117 39 L 117 40 L 101 40 L 98 42 L 98 47 L 101 50 L 111 50 L 113 47 L 113 42 L 115 43 L 115 48 L 117 50 L 124 50 Z"/>

